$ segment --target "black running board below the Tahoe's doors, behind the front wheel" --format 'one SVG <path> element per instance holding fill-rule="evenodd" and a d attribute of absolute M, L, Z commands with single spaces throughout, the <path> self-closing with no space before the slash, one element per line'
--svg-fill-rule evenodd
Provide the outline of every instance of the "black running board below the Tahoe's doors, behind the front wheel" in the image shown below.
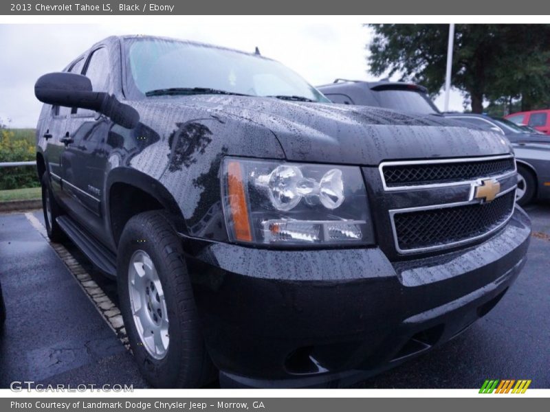
<path fill-rule="evenodd" d="M 91 262 L 105 275 L 116 277 L 116 256 L 98 240 L 92 238 L 69 216 L 59 216 L 58 225 Z"/>

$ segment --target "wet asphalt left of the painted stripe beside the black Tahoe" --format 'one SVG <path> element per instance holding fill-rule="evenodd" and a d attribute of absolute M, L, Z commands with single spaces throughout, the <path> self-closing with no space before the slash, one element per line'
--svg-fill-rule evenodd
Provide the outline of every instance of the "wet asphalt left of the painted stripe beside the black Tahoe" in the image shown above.
<path fill-rule="evenodd" d="M 146 387 L 130 352 L 24 214 L 0 215 L 0 282 L 8 314 L 0 388 L 25 380 Z"/>

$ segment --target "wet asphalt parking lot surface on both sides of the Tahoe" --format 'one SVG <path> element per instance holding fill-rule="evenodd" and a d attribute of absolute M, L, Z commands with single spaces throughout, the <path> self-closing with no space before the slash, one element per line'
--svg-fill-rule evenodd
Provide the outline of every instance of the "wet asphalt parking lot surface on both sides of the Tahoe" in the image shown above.
<path fill-rule="evenodd" d="M 356 387 L 476 388 L 487 378 L 550 387 L 550 203 L 526 210 L 533 221 L 528 261 L 498 306 L 453 341 Z M 0 282 L 8 310 L 0 388 L 14 380 L 147 387 L 124 347 L 123 330 L 113 330 L 67 262 L 76 260 L 116 306 L 115 283 L 70 242 L 60 255 L 40 222 L 39 210 L 0 215 Z"/>

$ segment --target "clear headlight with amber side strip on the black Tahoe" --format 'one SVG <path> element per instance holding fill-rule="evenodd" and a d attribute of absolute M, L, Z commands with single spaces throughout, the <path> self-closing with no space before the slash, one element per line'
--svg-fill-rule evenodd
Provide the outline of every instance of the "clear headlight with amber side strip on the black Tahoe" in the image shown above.
<path fill-rule="evenodd" d="M 373 243 L 358 167 L 226 157 L 222 170 L 223 214 L 233 242 Z"/>

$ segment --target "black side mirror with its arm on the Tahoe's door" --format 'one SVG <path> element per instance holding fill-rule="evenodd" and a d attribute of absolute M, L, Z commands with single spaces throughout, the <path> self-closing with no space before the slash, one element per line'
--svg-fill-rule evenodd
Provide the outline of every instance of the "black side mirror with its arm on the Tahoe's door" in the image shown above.
<path fill-rule="evenodd" d="M 125 128 L 135 128 L 140 122 L 140 114 L 135 108 L 120 103 L 108 93 L 92 91 L 89 78 L 80 74 L 45 74 L 36 80 L 34 95 L 41 102 L 54 106 L 89 108 Z"/>

